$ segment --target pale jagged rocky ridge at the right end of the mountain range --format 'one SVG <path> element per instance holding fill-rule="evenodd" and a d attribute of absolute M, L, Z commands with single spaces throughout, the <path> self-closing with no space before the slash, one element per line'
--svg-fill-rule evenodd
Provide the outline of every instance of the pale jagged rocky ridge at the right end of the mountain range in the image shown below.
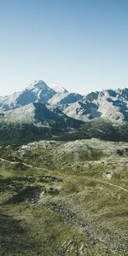
<path fill-rule="evenodd" d="M 68 104 L 63 112 L 83 121 L 102 117 L 114 124 L 121 124 L 128 121 L 128 89 L 92 92 L 79 102 Z"/>

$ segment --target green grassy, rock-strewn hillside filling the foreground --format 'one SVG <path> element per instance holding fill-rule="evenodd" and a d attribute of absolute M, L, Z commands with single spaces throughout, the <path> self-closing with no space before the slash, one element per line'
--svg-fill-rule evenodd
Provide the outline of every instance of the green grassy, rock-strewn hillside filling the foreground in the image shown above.
<path fill-rule="evenodd" d="M 2 255 L 127 255 L 127 144 L 83 143 L 0 148 Z"/>

